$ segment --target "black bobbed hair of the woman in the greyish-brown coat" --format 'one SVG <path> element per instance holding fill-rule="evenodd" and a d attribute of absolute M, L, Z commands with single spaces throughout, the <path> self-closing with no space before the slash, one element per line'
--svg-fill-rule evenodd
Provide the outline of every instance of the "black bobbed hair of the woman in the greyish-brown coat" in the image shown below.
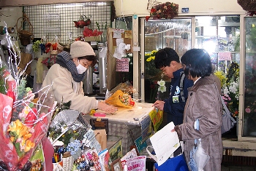
<path fill-rule="evenodd" d="M 189 49 L 181 57 L 182 65 L 185 65 L 186 76 L 195 77 L 210 76 L 212 73 L 211 58 L 205 49 Z"/>

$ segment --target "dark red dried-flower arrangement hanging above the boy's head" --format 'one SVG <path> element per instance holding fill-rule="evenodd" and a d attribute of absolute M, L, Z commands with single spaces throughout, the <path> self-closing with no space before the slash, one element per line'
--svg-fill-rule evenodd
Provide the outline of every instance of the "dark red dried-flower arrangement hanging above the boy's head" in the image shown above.
<path fill-rule="evenodd" d="M 151 7 L 150 15 L 146 16 L 146 21 L 148 21 L 150 17 L 153 17 L 153 19 L 172 19 L 177 16 L 178 4 L 167 1 L 163 4 L 157 4 L 156 6 Z"/>

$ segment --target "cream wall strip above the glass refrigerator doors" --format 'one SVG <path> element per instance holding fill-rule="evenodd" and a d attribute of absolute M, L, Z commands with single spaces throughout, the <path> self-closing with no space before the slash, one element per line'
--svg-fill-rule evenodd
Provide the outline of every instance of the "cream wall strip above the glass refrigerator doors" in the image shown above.
<path fill-rule="evenodd" d="M 117 16 L 138 15 L 146 17 L 148 0 L 114 0 Z M 159 0 L 159 2 L 166 2 Z M 214 15 L 214 14 L 244 14 L 244 9 L 237 0 L 173 0 L 178 4 L 179 15 Z M 181 13 L 181 8 L 189 7 L 189 13 Z"/>

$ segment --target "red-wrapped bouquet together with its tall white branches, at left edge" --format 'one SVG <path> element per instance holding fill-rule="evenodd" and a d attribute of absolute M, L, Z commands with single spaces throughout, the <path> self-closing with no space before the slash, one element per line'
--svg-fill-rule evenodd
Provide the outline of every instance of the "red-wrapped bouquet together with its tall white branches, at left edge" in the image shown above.
<path fill-rule="evenodd" d="M 47 138 L 56 103 L 45 101 L 46 88 L 33 93 L 31 88 L 26 87 L 26 68 L 18 69 L 20 52 L 12 50 L 10 35 L 7 33 L 6 36 L 9 40 L 7 50 L 15 58 L 0 66 L 0 87 L 3 88 L 0 93 L 0 169 L 26 171 L 33 167 L 30 159 L 34 151 Z M 35 98 L 36 95 L 38 98 Z"/>

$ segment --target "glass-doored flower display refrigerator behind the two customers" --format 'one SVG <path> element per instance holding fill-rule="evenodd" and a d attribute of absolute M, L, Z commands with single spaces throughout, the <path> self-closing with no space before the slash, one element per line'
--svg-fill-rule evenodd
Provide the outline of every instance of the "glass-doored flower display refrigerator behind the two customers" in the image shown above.
<path fill-rule="evenodd" d="M 230 66 L 236 64 L 232 76 L 237 74 L 238 79 L 227 83 L 227 87 L 236 84 L 236 94 L 229 102 L 233 104 L 230 111 L 237 121 L 232 134 L 238 141 L 256 140 L 256 17 L 214 15 L 148 21 L 142 18 L 140 25 L 143 101 L 154 103 L 168 98 L 170 93 L 170 79 L 154 67 L 152 56 L 156 50 L 171 47 L 181 57 L 191 48 L 206 49 L 214 64 L 214 73 L 221 71 L 227 76 Z M 165 80 L 165 92 L 158 90 L 157 81 L 161 79 Z M 230 87 L 229 90 L 231 92 Z"/>

